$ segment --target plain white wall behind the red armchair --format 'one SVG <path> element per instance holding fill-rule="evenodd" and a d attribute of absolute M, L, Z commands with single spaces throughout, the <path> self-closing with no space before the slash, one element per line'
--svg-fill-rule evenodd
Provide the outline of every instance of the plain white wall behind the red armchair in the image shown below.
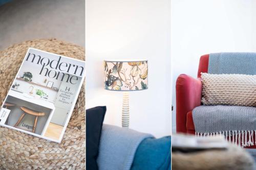
<path fill-rule="evenodd" d="M 255 52 L 253 0 L 172 0 L 172 127 L 176 130 L 175 83 L 180 74 L 197 77 L 200 56 Z M 253 21 L 253 23 L 252 23 Z"/>

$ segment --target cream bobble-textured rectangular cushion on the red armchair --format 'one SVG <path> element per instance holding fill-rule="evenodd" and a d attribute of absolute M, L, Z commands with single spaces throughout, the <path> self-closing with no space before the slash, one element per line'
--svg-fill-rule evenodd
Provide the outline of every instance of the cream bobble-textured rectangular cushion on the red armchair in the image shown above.
<path fill-rule="evenodd" d="M 256 75 L 202 73 L 204 105 L 256 106 Z"/>

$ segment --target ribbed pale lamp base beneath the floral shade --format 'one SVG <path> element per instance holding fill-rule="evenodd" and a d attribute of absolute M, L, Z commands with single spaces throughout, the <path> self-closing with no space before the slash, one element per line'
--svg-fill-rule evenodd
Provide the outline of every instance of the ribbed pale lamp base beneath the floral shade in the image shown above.
<path fill-rule="evenodd" d="M 129 92 L 123 92 L 122 127 L 129 128 Z"/>

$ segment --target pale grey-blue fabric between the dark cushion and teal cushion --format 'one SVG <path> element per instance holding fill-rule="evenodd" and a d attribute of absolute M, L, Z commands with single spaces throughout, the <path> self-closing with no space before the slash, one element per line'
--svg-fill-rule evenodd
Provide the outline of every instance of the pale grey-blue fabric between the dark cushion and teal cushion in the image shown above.
<path fill-rule="evenodd" d="M 129 170 L 140 142 L 150 134 L 112 125 L 103 125 L 99 155 L 99 170 Z"/>

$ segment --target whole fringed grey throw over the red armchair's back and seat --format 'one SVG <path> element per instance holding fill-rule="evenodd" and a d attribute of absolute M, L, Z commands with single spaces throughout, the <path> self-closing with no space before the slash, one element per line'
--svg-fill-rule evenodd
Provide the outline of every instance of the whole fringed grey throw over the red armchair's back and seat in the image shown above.
<path fill-rule="evenodd" d="M 212 53 L 209 74 L 256 75 L 256 53 Z M 256 108 L 242 106 L 199 106 L 193 109 L 196 135 L 224 134 L 242 147 L 254 145 Z M 256 143 L 255 143 L 256 144 Z"/>

